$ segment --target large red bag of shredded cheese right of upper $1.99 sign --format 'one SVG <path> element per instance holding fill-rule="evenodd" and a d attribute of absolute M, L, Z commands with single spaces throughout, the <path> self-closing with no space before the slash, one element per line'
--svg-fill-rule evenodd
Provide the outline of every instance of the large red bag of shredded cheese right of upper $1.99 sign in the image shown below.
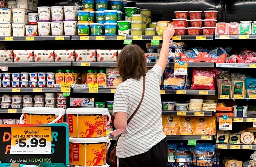
<path fill-rule="evenodd" d="M 191 89 L 215 90 L 215 76 L 221 73 L 220 69 L 193 68 Z"/>

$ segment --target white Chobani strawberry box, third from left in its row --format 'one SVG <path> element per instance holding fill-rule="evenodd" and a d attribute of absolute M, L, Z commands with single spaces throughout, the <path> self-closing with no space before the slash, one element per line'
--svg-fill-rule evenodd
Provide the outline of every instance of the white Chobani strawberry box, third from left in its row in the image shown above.
<path fill-rule="evenodd" d="M 53 50 L 34 50 L 35 62 L 53 62 Z"/>

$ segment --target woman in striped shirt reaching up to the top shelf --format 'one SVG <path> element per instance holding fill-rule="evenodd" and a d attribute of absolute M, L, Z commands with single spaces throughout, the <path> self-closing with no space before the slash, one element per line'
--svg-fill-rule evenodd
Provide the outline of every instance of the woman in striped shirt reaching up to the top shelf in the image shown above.
<path fill-rule="evenodd" d="M 169 53 L 169 41 L 174 27 L 169 24 L 163 32 L 160 59 L 147 72 L 144 51 L 137 45 L 126 45 L 119 54 L 117 69 L 123 82 L 118 85 L 115 98 L 114 126 L 125 128 L 117 142 L 117 166 L 166 167 L 168 146 L 162 129 L 159 82 Z M 138 112 L 127 125 L 126 121 L 139 105 L 142 96 L 143 76 L 145 95 Z"/>

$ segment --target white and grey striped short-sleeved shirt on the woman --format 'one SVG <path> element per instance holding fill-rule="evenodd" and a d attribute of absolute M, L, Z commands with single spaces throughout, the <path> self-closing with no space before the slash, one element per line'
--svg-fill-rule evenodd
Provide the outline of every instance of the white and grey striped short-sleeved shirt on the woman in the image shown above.
<path fill-rule="evenodd" d="M 147 152 L 165 138 L 161 118 L 161 97 L 159 82 L 160 66 L 154 66 L 146 73 L 145 94 L 141 106 L 117 142 L 117 157 L 125 158 Z M 143 76 L 127 79 L 119 84 L 114 98 L 115 112 L 127 113 L 127 120 L 136 110 L 142 96 Z"/>

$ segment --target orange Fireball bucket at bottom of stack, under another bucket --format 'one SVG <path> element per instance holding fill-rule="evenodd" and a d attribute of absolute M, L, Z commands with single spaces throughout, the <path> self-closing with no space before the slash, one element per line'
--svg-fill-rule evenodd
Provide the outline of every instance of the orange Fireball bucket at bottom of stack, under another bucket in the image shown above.
<path fill-rule="evenodd" d="M 110 147 L 108 137 L 69 138 L 69 165 L 108 167 L 107 150 Z"/>

